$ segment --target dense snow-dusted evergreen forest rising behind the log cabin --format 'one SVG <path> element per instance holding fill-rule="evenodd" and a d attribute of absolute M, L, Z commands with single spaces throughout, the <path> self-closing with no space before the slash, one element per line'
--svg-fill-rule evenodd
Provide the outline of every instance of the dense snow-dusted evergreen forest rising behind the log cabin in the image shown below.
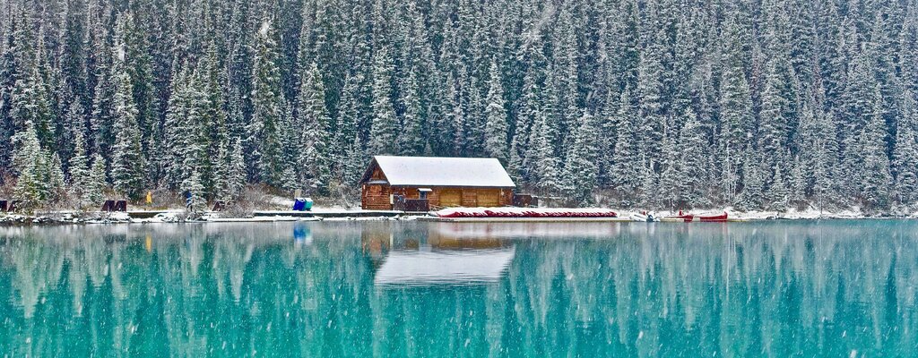
<path fill-rule="evenodd" d="M 0 0 L 18 199 L 355 190 L 498 157 L 619 207 L 918 201 L 911 0 Z"/>

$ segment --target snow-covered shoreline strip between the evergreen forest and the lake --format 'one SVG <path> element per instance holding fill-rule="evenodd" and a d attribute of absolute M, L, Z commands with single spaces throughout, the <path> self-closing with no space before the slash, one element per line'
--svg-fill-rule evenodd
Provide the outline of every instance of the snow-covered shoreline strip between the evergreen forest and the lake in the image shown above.
<path fill-rule="evenodd" d="M 468 208 L 469 210 L 485 210 L 483 208 Z M 589 210 L 611 210 L 618 213 L 620 222 L 627 222 L 638 211 L 623 211 L 608 208 L 539 208 L 536 210 L 565 210 L 571 212 L 587 212 Z M 525 209 L 520 209 L 525 210 Z M 837 212 L 821 212 L 811 209 L 807 211 L 788 211 L 788 212 L 736 212 L 730 208 L 725 210 L 703 210 L 691 211 L 695 215 L 710 215 L 728 213 L 730 222 L 753 222 L 767 220 L 851 220 L 851 219 L 918 219 L 918 212 L 912 212 L 909 215 L 867 215 L 858 210 L 847 210 Z M 261 215 L 252 215 L 248 217 L 221 217 L 217 212 L 207 212 L 198 219 L 188 220 L 187 214 L 181 210 L 171 210 L 156 212 L 147 218 L 132 218 L 130 214 L 135 215 L 153 212 L 39 212 L 38 214 L 26 215 L 19 213 L 0 214 L 0 225 L 39 225 L 39 224 L 88 224 L 88 223 L 166 223 L 166 222 L 186 222 L 186 223 L 205 223 L 205 222 L 316 222 L 316 221 L 409 221 L 418 218 L 432 219 L 435 215 L 419 215 L 418 213 L 399 213 L 399 212 L 375 212 L 362 210 L 341 210 L 317 208 L 314 212 L 261 212 Z M 315 214 L 315 216 L 303 216 L 302 214 Z M 375 216 L 377 213 L 385 215 Z M 655 211 L 656 217 L 666 217 L 677 215 L 677 212 Z M 333 215 L 323 217 L 323 215 Z M 558 220 L 563 221 L 563 220 Z M 524 222 L 521 220 L 521 222 Z"/>

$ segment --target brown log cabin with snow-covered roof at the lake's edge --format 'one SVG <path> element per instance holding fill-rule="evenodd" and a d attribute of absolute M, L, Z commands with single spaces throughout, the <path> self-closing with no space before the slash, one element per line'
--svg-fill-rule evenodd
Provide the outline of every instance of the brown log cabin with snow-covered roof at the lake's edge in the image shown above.
<path fill-rule="evenodd" d="M 360 184 L 364 210 L 392 210 L 396 195 L 426 199 L 431 208 L 507 206 L 516 188 L 498 159 L 487 157 L 375 156 Z"/>

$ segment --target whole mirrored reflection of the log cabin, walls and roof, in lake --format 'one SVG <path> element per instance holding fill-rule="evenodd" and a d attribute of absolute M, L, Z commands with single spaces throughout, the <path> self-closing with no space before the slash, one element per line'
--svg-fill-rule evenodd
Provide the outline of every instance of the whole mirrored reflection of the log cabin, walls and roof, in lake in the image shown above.
<path fill-rule="evenodd" d="M 364 227 L 362 247 L 375 266 L 375 287 L 480 285 L 506 275 L 515 255 L 509 240 L 456 233 L 434 224 L 396 237 Z"/>

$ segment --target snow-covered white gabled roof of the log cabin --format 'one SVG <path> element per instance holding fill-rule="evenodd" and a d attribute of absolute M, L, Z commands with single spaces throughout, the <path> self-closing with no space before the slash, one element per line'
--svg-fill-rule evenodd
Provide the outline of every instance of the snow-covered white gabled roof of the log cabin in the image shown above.
<path fill-rule="evenodd" d="M 514 188 L 498 159 L 490 157 L 375 156 L 362 182 L 379 166 L 391 186 Z"/>

